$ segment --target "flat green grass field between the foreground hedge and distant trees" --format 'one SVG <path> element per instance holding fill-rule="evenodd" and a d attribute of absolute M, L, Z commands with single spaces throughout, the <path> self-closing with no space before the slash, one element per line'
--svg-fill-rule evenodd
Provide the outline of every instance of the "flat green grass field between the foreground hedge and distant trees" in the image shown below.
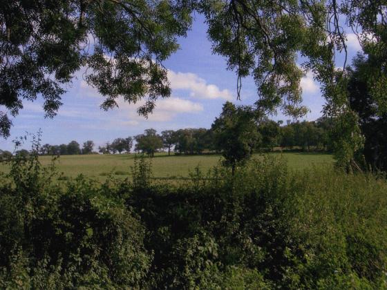
<path fill-rule="evenodd" d="M 332 155 L 323 153 L 271 153 L 276 157 L 283 157 L 292 170 L 303 170 L 312 166 L 331 165 Z M 259 158 L 259 155 L 255 157 Z M 76 177 L 83 174 L 104 180 L 107 175 L 126 177 L 131 173 L 135 155 L 64 155 L 57 160 L 57 170 L 64 177 Z M 207 172 L 209 168 L 220 164 L 220 155 L 171 155 L 158 153 L 152 159 L 152 172 L 155 178 L 179 178 L 187 177 L 189 171 L 199 166 Z M 39 157 L 43 165 L 51 162 L 50 156 Z M 0 164 L 0 171 L 6 172 L 7 166 Z"/>

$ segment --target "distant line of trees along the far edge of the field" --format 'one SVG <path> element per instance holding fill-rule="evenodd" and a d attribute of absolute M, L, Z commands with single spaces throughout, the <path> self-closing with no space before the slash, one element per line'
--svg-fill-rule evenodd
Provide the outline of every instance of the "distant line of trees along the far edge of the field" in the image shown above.
<path fill-rule="evenodd" d="M 227 104 L 226 104 L 227 105 Z M 225 106 L 226 106 L 225 105 Z M 229 104 L 232 108 L 232 105 Z M 230 109 L 231 110 L 231 109 Z M 231 113 L 230 113 L 231 114 Z M 235 115 L 230 115 L 230 119 L 235 119 Z M 241 117 L 243 118 L 243 117 Z M 185 128 L 177 131 L 166 130 L 160 134 L 153 128 L 144 131 L 143 134 L 133 137 L 116 138 L 113 142 L 106 142 L 104 146 L 99 146 L 97 151 L 94 151 L 95 143 L 88 140 L 82 146 L 71 141 L 68 144 L 50 145 L 44 144 L 41 146 L 40 155 L 79 155 L 79 154 L 116 154 L 116 153 L 131 153 L 134 144 L 134 151 L 153 156 L 154 153 L 167 151 L 176 154 L 194 155 L 202 153 L 220 153 L 224 151 L 225 137 L 234 135 L 238 137 L 238 130 L 241 128 L 229 128 L 229 131 L 222 131 L 224 136 L 217 135 L 220 125 L 215 121 L 210 129 L 206 128 Z M 330 141 L 330 128 L 332 128 L 332 120 L 328 118 L 320 118 L 316 121 L 290 122 L 287 121 L 284 125 L 282 121 L 274 122 L 267 117 L 259 122 L 250 124 L 247 119 L 244 119 L 243 124 L 249 124 L 248 134 L 254 139 L 254 144 L 250 144 L 249 148 L 252 151 L 265 150 L 273 151 L 274 148 L 280 147 L 283 150 L 301 150 L 301 151 L 330 151 L 332 142 Z M 231 131 L 230 131 L 231 130 Z M 233 131 L 234 130 L 234 131 Z M 245 131 L 243 131 L 245 132 Z M 220 138 L 220 139 L 219 139 Z M 236 148 L 230 147 L 232 151 Z M 21 149 L 17 154 L 26 152 Z M 9 151 L 0 151 L 2 155 L 10 155 Z"/>

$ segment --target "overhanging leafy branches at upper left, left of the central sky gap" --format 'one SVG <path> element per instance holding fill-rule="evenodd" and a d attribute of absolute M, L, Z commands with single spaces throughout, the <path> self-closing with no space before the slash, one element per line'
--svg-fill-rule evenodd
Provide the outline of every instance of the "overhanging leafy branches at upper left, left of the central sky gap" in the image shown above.
<path fill-rule="evenodd" d="M 47 117 L 62 105 L 62 84 L 80 68 L 86 81 L 106 97 L 136 102 L 147 115 L 170 89 L 160 66 L 191 23 L 189 6 L 167 1 L 1 1 L 0 104 L 17 115 L 23 100 L 44 99 Z M 0 135 L 10 119 L 0 114 Z"/>

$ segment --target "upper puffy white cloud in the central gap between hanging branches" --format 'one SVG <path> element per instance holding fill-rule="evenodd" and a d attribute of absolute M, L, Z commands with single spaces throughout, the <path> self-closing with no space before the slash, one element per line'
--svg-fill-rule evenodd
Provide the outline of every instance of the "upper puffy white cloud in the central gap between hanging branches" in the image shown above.
<path fill-rule="evenodd" d="M 191 97 L 201 99 L 232 99 L 229 90 L 221 90 L 214 84 L 207 84 L 205 79 L 191 72 L 173 72 L 173 70 L 169 70 L 168 79 L 171 82 L 172 90 L 189 90 Z"/>

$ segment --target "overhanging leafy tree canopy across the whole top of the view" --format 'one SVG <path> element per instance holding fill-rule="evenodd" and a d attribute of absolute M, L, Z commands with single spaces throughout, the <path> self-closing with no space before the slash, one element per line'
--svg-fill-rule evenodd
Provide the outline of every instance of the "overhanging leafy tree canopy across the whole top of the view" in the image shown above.
<path fill-rule="evenodd" d="M 118 97 L 145 98 L 138 113 L 151 113 L 158 97 L 170 95 L 162 61 L 178 49 L 176 38 L 186 35 L 193 12 L 205 15 L 214 52 L 236 71 L 238 95 L 241 79 L 254 77 L 259 110 L 303 115 L 299 81 L 305 70 L 321 82 L 325 113 L 348 110 L 345 86 L 335 77 L 335 53 L 346 51 L 343 23 L 374 64 L 370 93 L 386 91 L 384 1 L 6 0 L 0 3 L 0 135 L 10 134 L 9 115 L 39 95 L 53 117 L 64 85 L 81 68 L 105 97 L 102 108 L 117 106 Z M 383 99 L 380 113 L 387 108 Z"/>

